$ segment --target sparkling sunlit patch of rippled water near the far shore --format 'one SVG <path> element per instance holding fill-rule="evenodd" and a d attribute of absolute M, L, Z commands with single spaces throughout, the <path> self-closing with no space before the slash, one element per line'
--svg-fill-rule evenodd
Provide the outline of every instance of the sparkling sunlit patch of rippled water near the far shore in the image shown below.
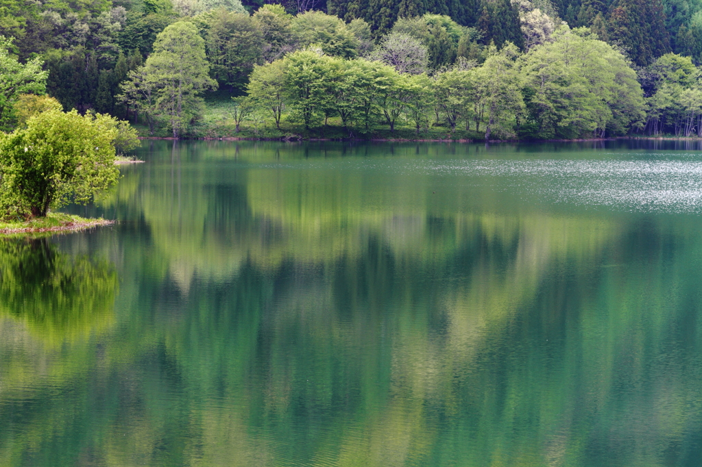
<path fill-rule="evenodd" d="M 702 212 L 702 161 L 694 153 L 608 154 L 611 159 L 357 159 L 264 164 L 273 170 L 365 172 L 372 176 L 438 177 L 442 184 L 490 187 L 541 203 L 632 212 Z M 661 158 L 658 158 L 661 157 Z M 663 158 L 664 157 L 664 158 Z"/>

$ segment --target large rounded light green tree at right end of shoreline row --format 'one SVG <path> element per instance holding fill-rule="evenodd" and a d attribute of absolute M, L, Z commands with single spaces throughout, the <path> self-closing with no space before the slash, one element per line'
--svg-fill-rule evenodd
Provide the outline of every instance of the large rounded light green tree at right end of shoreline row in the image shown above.
<path fill-rule="evenodd" d="M 541 137 L 621 134 L 644 119 L 636 74 L 586 28 L 560 27 L 522 60 L 529 118 Z"/>

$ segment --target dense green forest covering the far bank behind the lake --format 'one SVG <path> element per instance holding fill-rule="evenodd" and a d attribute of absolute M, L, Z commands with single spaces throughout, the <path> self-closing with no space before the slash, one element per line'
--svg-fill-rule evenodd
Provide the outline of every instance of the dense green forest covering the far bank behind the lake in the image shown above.
<path fill-rule="evenodd" d="M 219 89 L 236 132 L 702 130 L 702 0 L 1 0 L 0 35 L 5 129 L 46 93 L 187 137 Z"/>

